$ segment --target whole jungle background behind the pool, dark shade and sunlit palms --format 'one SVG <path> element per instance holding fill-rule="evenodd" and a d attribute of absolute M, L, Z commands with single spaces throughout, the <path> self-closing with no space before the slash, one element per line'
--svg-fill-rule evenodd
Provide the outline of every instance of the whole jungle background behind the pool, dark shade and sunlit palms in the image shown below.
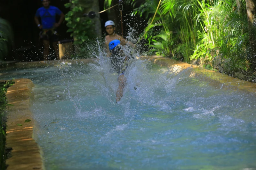
<path fill-rule="evenodd" d="M 52 0 L 51 5 L 65 14 L 58 33 L 60 40 L 74 40 L 73 57 L 92 57 L 90 51 L 96 45 L 95 38 L 102 40 L 106 35 L 107 20 L 113 20 L 116 33 L 121 34 L 117 6 L 97 14 L 94 19 L 83 16 L 117 2 Z M 141 55 L 171 57 L 255 82 L 256 0 L 124 0 L 123 4 L 124 37 L 135 30 L 132 32 L 135 43 L 146 32 L 138 43 Z M 40 0 L 1 0 L 2 61 L 42 60 L 40 30 L 33 19 L 41 6 Z M 252 15 L 247 16 L 248 12 Z"/>

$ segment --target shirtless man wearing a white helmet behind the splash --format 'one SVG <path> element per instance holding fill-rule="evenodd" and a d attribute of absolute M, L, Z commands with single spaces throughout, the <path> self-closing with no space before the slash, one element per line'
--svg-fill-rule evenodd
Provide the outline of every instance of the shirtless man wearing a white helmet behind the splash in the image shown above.
<path fill-rule="evenodd" d="M 116 26 L 113 21 L 111 21 L 111 20 L 107 21 L 105 23 L 105 28 L 106 28 L 106 32 L 108 33 L 108 35 L 105 37 L 106 47 L 108 47 L 109 42 L 113 41 L 113 40 L 119 40 L 121 45 L 128 44 L 132 47 L 135 47 L 135 45 L 133 43 L 125 40 L 121 35 L 118 35 L 115 33 Z M 109 50 L 106 50 L 106 52 L 107 52 L 108 56 L 111 55 Z"/>

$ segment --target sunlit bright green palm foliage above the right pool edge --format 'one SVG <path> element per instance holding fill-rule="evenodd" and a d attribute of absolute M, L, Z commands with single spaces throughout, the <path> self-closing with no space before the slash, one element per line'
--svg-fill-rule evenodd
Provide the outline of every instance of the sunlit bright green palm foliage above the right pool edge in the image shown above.
<path fill-rule="evenodd" d="M 150 23 L 158 3 L 145 0 L 132 16 Z M 255 18 L 253 24 L 255 29 Z M 182 58 L 188 63 L 201 59 L 208 69 L 231 75 L 249 68 L 245 0 L 241 0 L 239 12 L 234 0 L 162 0 L 153 24 L 145 30 L 149 30 L 144 37 L 149 54 Z"/>

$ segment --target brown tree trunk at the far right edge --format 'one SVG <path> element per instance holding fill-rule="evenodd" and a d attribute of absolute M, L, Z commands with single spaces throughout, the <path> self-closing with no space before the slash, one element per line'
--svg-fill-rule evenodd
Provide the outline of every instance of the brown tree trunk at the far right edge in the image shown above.
<path fill-rule="evenodd" d="M 248 57 L 253 71 L 256 71 L 256 36 L 253 33 L 253 18 L 256 16 L 256 0 L 245 0 L 247 10 L 247 20 L 249 26 L 250 56 Z"/>

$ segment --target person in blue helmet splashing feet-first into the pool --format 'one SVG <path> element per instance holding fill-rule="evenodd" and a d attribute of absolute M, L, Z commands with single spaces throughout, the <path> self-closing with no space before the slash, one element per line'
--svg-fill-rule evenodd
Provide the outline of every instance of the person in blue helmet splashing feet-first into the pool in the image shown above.
<path fill-rule="evenodd" d="M 118 73 L 118 88 L 116 91 L 116 102 L 120 101 L 123 97 L 124 87 L 126 85 L 126 77 L 124 76 L 125 69 L 128 67 L 128 60 L 132 57 L 122 56 L 120 54 L 121 47 L 120 40 L 110 41 L 108 44 L 109 51 L 111 52 L 110 62 L 114 70 Z"/>

